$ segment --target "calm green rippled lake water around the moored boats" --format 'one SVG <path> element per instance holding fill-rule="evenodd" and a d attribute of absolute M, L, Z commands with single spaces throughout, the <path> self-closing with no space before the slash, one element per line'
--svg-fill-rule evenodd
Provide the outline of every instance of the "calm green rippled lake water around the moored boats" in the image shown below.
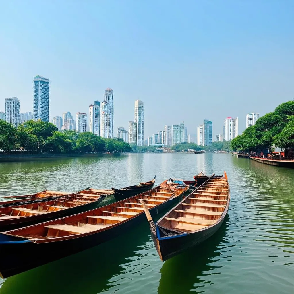
<path fill-rule="evenodd" d="M 163 263 L 146 220 L 95 248 L 0 278 L 0 293 L 293 293 L 294 169 L 208 153 L 0 163 L 0 196 L 123 187 L 154 175 L 158 184 L 223 170 L 230 183 L 229 213 L 200 246 Z"/>

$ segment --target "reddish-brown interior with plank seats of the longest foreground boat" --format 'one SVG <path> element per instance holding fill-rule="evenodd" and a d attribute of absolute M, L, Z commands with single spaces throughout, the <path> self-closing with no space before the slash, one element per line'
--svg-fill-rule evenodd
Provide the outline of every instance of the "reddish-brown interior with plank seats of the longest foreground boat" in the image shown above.
<path fill-rule="evenodd" d="M 30 239 L 48 239 L 102 230 L 143 213 L 140 200 L 143 200 L 150 209 L 181 193 L 183 193 L 182 190 L 176 191 L 158 186 L 151 191 L 101 208 L 46 222 L 46 224 L 34 225 L 31 228 L 12 230 L 9 231 L 9 234 Z"/>

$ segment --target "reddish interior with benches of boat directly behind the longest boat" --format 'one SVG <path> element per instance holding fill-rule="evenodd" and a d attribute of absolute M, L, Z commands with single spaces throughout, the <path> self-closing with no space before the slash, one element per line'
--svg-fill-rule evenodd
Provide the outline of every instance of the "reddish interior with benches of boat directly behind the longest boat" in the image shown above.
<path fill-rule="evenodd" d="M 98 198 L 88 198 L 76 193 L 64 196 L 55 200 L 30 203 L 21 206 L 8 206 L 0 208 L 0 222 L 1 220 L 19 218 L 24 216 L 33 216 L 42 213 L 54 212 L 71 208 L 74 206 L 91 203 Z"/>

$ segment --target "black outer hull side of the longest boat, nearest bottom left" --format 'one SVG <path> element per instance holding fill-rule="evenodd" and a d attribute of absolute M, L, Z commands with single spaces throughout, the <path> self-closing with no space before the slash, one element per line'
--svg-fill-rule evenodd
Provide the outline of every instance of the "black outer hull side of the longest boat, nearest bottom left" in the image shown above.
<path fill-rule="evenodd" d="M 161 205 L 151 208 L 149 210 L 151 215 L 155 216 L 167 207 L 174 205 L 178 198 L 169 199 Z M 80 238 L 50 243 L 37 244 L 19 237 L 0 235 L 0 252 L 5 252 L 5 254 L 1 255 L 0 276 L 8 278 L 51 261 L 92 248 L 121 235 L 126 229 L 132 228 L 144 220 L 146 220 L 145 214 L 140 213 L 138 216 L 119 225 L 112 226 L 107 230 L 97 231 Z M 7 243 L 4 242 L 6 239 Z M 15 242 L 11 242 L 13 240 Z"/>

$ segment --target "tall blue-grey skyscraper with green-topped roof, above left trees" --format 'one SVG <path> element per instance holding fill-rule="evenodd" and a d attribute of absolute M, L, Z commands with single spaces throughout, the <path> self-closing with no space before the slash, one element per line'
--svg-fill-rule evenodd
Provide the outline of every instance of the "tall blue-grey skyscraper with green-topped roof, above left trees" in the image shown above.
<path fill-rule="evenodd" d="M 49 121 L 49 83 L 48 78 L 34 77 L 34 119 Z"/>

